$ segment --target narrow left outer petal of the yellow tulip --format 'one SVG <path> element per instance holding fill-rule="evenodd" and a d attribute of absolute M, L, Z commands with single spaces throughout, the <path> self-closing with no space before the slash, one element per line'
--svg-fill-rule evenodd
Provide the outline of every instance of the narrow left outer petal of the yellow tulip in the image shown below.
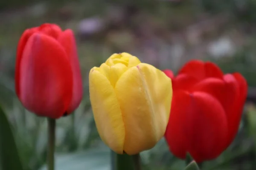
<path fill-rule="evenodd" d="M 119 102 L 111 83 L 92 68 L 89 74 L 90 102 L 99 135 L 116 153 L 123 153 L 125 127 Z"/>

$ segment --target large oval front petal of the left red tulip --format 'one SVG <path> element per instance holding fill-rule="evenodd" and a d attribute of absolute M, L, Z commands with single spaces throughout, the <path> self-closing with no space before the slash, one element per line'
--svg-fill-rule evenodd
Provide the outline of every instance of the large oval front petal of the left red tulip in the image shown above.
<path fill-rule="evenodd" d="M 20 100 L 40 116 L 59 118 L 72 97 L 72 72 L 59 43 L 44 34 L 33 34 L 20 61 Z"/>

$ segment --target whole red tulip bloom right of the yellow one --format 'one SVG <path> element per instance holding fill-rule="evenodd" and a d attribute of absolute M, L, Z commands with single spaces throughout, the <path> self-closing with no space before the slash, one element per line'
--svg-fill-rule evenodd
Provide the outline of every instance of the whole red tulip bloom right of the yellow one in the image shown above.
<path fill-rule="evenodd" d="M 247 82 L 239 73 L 223 74 L 212 62 L 192 60 L 172 79 L 173 99 L 165 138 L 171 152 L 197 162 L 215 159 L 239 128 Z"/>

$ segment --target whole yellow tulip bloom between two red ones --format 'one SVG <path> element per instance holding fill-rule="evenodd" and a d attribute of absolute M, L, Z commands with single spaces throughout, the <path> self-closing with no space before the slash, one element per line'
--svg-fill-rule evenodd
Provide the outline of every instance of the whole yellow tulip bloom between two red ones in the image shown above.
<path fill-rule="evenodd" d="M 127 53 L 113 54 L 89 74 L 90 101 L 103 142 L 116 153 L 148 150 L 163 137 L 172 81 Z"/>

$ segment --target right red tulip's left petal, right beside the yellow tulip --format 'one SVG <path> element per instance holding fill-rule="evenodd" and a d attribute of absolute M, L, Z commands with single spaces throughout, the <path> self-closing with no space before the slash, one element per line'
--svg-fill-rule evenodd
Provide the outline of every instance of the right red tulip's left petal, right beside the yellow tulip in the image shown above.
<path fill-rule="evenodd" d="M 170 151 L 180 159 L 186 158 L 189 142 L 185 136 L 186 114 L 191 109 L 191 99 L 184 91 L 175 91 L 172 98 L 172 109 L 166 128 L 165 138 Z"/>

